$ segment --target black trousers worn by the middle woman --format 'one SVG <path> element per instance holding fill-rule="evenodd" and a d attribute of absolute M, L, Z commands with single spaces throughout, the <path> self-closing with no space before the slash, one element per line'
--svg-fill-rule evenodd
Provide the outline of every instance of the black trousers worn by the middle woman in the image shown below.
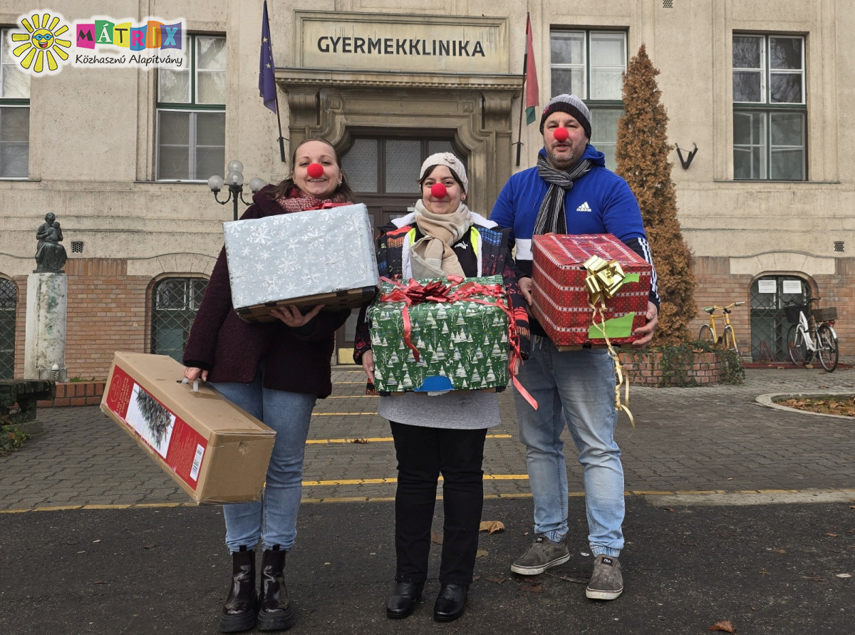
<path fill-rule="evenodd" d="M 389 423 L 398 457 L 395 580 L 424 582 L 428 578 L 430 530 L 441 472 L 445 525 L 439 583 L 470 585 L 484 506 L 481 463 L 486 428 L 445 430 Z"/>

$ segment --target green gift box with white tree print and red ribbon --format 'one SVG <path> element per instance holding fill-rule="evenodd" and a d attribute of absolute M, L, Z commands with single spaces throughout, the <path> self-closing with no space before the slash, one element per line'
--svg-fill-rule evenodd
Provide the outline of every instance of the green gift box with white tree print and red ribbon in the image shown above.
<path fill-rule="evenodd" d="M 483 390 L 510 381 L 502 276 L 380 283 L 369 306 L 374 385 L 384 392 Z"/>

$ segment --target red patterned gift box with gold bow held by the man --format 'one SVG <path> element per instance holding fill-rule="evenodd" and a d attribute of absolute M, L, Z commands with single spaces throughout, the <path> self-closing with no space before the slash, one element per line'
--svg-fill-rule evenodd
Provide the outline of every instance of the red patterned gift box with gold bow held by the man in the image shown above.
<path fill-rule="evenodd" d="M 612 234 L 543 234 L 533 243 L 534 317 L 557 347 L 604 346 L 606 335 L 613 345 L 636 339 L 650 264 Z"/>

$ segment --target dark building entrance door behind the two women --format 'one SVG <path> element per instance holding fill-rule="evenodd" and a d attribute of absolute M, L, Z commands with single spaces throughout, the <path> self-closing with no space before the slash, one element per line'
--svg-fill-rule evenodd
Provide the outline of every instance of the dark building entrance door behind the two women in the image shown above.
<path fill-rule="evenodd" d="M 357 202 L 369 208 L 375 229 L 413 211 L 419 199 L 419 169 L 430 155 L 454 152 L 466 163 L 467 157 L 455 151 L 453 139 L 454 133 L 448 130 L 396 131 L 396 134 L 351 131 L 351 145 L 341 154 L 342 168 L 357 193 Z M 336 334 L 339 364 L 353 363 L 358 317 L 359 312 L 354 310 Z"/>

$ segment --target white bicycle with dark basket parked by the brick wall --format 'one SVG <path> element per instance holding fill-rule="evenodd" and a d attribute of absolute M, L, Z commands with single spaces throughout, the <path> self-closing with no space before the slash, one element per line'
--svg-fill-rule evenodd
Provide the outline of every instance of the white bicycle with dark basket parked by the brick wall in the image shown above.
<path fill-rule="evenodd" d="M 811 304 L 819 300 L 821 298 L 808 298 L 803 305 L 791 300 L 784 305 L 787 322 L 792 324 L 787 331 L 787 352 L 795 365 L 806 366 L 816 356 L 823 368 L 832 372 L 840 357 L 834 332 L 837 307 L 809 311 Z"/>

